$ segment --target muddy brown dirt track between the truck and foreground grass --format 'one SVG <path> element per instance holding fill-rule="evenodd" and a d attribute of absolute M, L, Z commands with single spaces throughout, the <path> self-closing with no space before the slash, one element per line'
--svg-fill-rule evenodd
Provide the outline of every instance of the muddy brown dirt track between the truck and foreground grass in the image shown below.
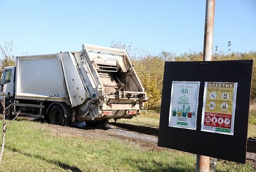
<path fill-rule="evenodd" d="M 105 130 L 102 129 L 79 129 L 66 126 L 51 125 L 45 123 L 38 123 L 38 128 L 50 130 L 56 136 L 60 137 L 85 137 L 85 138 L 99 138 L 99 139 L 116 139 L 123 142 L 133 142 L 134 146 L 141 149 L 151 151 L 175 151 L 172 149 L 161 148 L 157 146 L 157 136 L 150 136 L 147 134 L 137 133 L 134 131 L 119 128 L 113 125 L 107 125 Z"/>

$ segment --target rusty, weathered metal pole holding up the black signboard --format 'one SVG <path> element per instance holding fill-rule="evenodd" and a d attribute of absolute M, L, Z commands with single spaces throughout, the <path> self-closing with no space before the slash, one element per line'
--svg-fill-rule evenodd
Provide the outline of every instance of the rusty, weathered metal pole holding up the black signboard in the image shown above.
<path fill-rule="evenodd" d="M 213 53 L 213 26 L 215 0 L 206 0 L 205 7 L 205 37 L 203 44 L 203 61 L 211 61 Z M 210 157 L 197 155 L 196 172 L 209 172 Z"/>

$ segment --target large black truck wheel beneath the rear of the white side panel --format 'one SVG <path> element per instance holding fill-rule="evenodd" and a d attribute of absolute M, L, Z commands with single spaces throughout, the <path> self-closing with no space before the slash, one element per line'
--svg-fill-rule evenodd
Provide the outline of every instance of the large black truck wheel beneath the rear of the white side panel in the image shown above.
<path fill-rule="evenodd" d="M 51 124 L 64 125 L 65 116 L 64 116 L 63 109 L 59 105 L 54 105 L 51 108 L 51 111 L 49 114 L 49 120 Z"/>

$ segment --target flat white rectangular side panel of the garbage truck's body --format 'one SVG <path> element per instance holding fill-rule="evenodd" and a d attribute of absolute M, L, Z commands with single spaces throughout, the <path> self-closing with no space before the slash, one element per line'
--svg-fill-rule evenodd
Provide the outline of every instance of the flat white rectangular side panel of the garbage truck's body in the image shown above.
<path fill-rule="evenodd" d="M 16 99 L 69 102 L 59 54 L 17 57 Z"/>

